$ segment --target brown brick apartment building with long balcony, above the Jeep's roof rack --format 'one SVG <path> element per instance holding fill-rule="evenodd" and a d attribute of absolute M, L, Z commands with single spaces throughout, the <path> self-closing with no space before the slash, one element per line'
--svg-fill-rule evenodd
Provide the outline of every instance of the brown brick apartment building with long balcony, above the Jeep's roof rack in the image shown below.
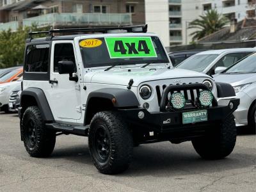
<path fill-rule="evenodd" d="M 0 30 L 32 24 L 73 28 L 144 23 L 144 0 L 0 0 Z"/>

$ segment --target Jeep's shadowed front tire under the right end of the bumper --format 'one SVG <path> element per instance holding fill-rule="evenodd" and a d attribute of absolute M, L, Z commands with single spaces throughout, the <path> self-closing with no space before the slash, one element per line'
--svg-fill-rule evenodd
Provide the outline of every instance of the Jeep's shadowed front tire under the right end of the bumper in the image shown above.
<path fill-rule="evenodd" d="M 204 159 L 223 159 L 236 145 L 236 123 L 234 116 L 228 116 L 220 127 L 214 127 L 202 138 L 192 140 L 196 152 Z"/>

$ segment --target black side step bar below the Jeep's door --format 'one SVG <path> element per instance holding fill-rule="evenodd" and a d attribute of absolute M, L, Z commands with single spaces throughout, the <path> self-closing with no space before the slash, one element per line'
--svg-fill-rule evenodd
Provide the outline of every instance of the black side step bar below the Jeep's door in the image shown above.
<path fill-rule="evenodd" d="M 76 134 L 79 136 L 88 136 L 88 130 L 90 125 L 86 126 L 73 126 L 63 125 L 58 123 L 45 124 L 47 129 L 52 129 L 56 132 L 63 132 L 64 134 Z"/>

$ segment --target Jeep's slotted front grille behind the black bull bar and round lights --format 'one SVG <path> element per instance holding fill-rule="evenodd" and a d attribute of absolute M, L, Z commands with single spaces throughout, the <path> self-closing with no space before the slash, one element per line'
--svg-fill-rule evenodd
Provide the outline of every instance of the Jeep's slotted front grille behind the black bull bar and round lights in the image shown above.
<path fill-rule="evenodd" d="M 186 84 L 186 83 L 183 83 L 183 84 Z M 188 84 L 192 84 L 192 83 L 188 83 Z M 170 85 L 173 85 L 173 84 L 170 84 Z M 176 85 L 180 85 L 179 83 L 177 83 Z M 162 95 L 163 95 L 163 91 L 164 89 L 166 88 L 166 84 L 163 84 L 163 86 L 160 86 L 160 85 L 157 85 L 156 86 L 156 93 L 157 93 L 157 100 L 158 100 L 158 104 L 160 105 L 160 102 L 161 102 L 161 98 L 162 98 Z M 190 90 L 181 90 L 181 91 L 171 91 L 169 94 L 168 94 L 168 97 L 166 98 L 167 99 L 167 102 L 169 103 L 170 102 L 170 97 L 173 93 L 175 92 L 180 92 L 182 93 L 182 95 L 184 95 L 185 99 L 186 99 L 186 102 L 191 102 L 192 104 L 195 104 L 196 103 L 196 100 L 197 98 L 199 97 L 199 92 L 200 92 L 200 89 L 190 89 Z"/>

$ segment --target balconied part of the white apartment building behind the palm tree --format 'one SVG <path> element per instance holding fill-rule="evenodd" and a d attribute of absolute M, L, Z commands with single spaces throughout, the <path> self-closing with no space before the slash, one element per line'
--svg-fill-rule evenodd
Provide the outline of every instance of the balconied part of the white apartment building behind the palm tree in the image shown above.
<path fill-rule="evenodd" d="M 189 22 L 216 9 L 228 19 L 243 20 L 255 14 L 255 0 L 169 0 L 170 45 L 189 44 L 195 29 L 188 29 Z M 251 12 L 253 10 L 253 12 Z"/>

